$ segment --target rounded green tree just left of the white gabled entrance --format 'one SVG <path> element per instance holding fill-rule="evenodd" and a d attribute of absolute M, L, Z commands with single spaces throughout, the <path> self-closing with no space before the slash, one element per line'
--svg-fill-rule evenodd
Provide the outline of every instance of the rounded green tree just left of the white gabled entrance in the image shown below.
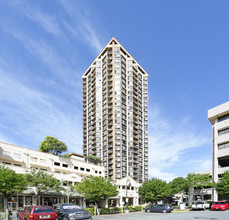
<path fill-rule="evenodd" d="M 83 178 L 82 181 L 75 186 L 78 193 L 82 194 L 87 201 L 95 203 L 96 210 L 98 210 L 97 202 L 101 199 L 117 196 L 117 186 L 109 179 L 101 176 L 90 176 L 89 179 Z"/>

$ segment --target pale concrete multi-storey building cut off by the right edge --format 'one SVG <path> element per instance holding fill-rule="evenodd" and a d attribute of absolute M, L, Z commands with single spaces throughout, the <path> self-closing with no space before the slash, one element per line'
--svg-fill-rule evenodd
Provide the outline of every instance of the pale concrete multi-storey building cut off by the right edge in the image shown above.
<path fill-rule="evenodd" d="M 208 110 L 208 119 L 212 124 L 212 177 L 217 182 L 229 171 L 229 102 Z M 214 201 L 221 199 L 215 190 L 212 194 Z"/>

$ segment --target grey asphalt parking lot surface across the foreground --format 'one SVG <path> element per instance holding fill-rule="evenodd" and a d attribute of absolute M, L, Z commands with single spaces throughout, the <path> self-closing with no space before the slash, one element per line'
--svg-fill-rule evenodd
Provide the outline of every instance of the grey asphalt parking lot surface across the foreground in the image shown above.
<path fill-rule="evenodd" d="M 93 216 L 93 220 L 229 220 L 227 211 L 189 211 L 173 213 L 123 213 L 114 215 Z"/>

